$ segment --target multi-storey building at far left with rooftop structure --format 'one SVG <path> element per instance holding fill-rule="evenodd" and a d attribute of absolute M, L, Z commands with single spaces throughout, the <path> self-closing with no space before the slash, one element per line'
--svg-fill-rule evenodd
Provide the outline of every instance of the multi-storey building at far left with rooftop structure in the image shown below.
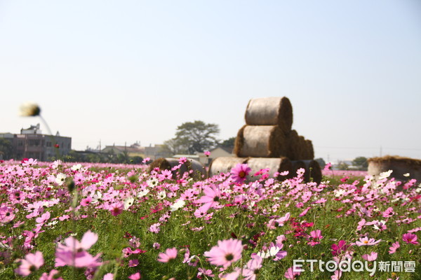
<path fill-rule="evenodd" d="M 20 130 L 20 134 L 2 133 L 0 138 L 11 141 L 13 158 L 35 158 L 39 161 L 47 161 L 67 155 L 72 149 L 72 138 L 61 137 L 57 132 L 55 136 L 42 134 L 39 124 L 31 125 L 27 129 Z"/>

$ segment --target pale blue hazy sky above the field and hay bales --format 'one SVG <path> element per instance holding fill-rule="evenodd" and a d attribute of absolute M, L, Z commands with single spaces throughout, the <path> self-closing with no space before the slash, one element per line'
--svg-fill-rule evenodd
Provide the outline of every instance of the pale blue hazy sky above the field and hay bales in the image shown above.
<path fill-rule="evenodd" d="M 0 94 L 0 132 L 39 123 L 34 101 L 76 149 L 193 120 L 227 139 L 286 96 L 317 158 L 421 158 L 421 3 L 0 0 Z"/>

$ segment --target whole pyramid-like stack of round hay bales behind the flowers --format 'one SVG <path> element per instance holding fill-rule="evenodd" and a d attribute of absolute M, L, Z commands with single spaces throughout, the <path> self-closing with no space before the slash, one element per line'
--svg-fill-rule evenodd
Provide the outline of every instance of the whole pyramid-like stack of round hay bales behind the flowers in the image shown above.
<path fill-rule="evenodd" d="M 291 130 L 293 107 L 287 97 L 251 99 L 245 119 L 246 125 L 239 130 L 234 144 L 237 158 L 215 159 L 210 165 L 210 176 L 229 172 L 236 165 L 234 162 L 241 162 L 248 164 L 252 174 L 269 168 L 271 175 L 288 170 L 295 176 L 297 169 L 305 168 L 307 181 L 310 177 L 318 183 L 321 181 L 321 168 L 314 161 L 312 141 Z"/>

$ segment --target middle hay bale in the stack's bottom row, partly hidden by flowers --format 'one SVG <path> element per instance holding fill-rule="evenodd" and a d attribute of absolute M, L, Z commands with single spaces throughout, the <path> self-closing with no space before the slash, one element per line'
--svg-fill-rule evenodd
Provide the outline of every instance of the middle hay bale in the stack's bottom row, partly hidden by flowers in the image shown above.
<path fill-rule="evenodd" d="M 269 168 L 269 176 L 273 178 L 275 172 L 289 171 L 293 168 L 291 161 L 286 158 L 249 158 L 247 160 L 248 167 L 251 168 L 249 179 L 253 180 L 253 174 L 259 172 L 261 169 Z M 278 176 L 277 179 L 282 179 Z M 285 179 L 285 177 L 283 178 Z"/>

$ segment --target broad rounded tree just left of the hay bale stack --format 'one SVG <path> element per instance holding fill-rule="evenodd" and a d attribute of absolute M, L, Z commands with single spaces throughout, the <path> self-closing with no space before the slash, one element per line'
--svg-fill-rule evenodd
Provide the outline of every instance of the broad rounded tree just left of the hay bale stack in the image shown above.
<path fill-rule="evenodd" d="M 218 144 L 216 135 L 219 132 L 218 125 L 195 120 L 178 126 L 173 140 L 184 147 L 187 153 L 193 154 L 214 148 Z"/>

